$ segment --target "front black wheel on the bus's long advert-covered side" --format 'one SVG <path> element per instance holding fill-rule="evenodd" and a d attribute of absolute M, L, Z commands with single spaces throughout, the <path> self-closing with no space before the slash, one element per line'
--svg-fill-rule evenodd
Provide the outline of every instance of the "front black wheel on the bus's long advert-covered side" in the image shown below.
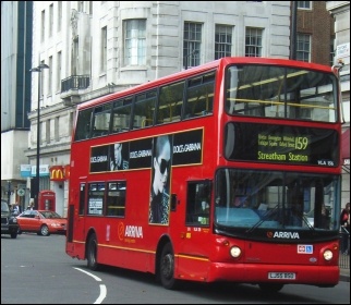
<path fill-rule="evenodd" d="M 166 289 L 173 290 L 178 286 L 178 280 L 174 279 L 174 254 L 170 243 L 167 243 L 161 252 L 159 279 Z"/>

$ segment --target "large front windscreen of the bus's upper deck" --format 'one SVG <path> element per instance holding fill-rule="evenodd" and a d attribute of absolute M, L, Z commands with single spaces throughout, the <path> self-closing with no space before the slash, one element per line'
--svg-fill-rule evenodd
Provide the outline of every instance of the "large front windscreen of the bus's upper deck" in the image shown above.
<path fill-rule="evenodd" d="M 226 75 L 226 111 L 230 114 L 337 121 L 337 78 L 331 73 L 233 65 Z"/>

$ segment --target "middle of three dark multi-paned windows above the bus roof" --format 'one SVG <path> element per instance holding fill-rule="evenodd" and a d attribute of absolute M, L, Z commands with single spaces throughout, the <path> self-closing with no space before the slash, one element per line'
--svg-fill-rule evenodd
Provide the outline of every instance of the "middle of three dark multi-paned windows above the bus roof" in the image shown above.
<path fill-rule="evenodd" d="M 231 56 L 232 26 L 216 25 L 215 59 Z"/>

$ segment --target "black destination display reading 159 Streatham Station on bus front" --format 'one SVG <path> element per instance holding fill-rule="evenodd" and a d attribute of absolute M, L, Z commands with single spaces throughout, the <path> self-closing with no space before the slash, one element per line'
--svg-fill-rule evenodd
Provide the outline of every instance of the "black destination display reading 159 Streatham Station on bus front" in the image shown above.
<path fill-rule="evenodd" d="M 336 167 L 336 131 L 291 125 L 228 123 L 226 158 L 289 164 Z"/>

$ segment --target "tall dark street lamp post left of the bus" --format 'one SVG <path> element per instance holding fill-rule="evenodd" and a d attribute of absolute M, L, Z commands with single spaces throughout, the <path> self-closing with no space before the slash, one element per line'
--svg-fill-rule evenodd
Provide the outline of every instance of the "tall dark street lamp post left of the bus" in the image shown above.
<path fill-rule="evenodd" d="M 39 167 L 40 167 L 40 83 L 41 83 L 41 71 L 43 69 L 49 69 L 49 65 L 45 63 L 40 63 L 36 68 L 32 68 L 31 72 L 38 72 L 38 109 L 37 109 L 37 167 L 36 167 L 36 175 L 35 175 L 35 185 L 34 187 L 34 208 L 38 208 L 38 198 L 39 198 L 39 191 L 40 191 L 40 174 L 39 174 Z M 33 188 L 32 185 L 32 188 Z"/>

